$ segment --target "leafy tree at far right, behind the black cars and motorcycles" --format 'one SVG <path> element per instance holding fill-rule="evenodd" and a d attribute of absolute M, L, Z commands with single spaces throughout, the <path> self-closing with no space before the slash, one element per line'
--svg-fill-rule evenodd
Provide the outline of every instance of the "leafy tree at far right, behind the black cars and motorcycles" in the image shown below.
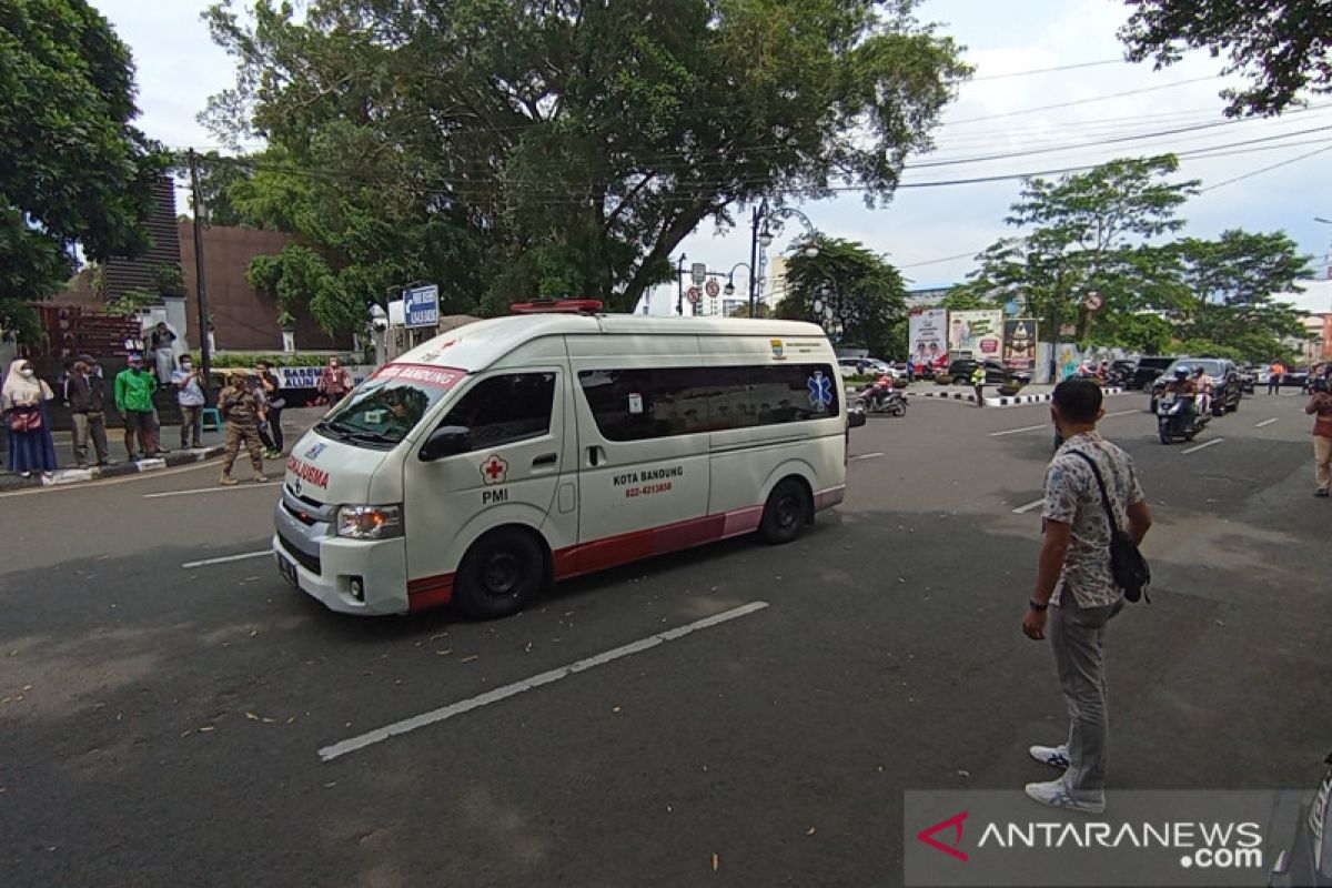
<path fill-rule="evenodd" d="M 1300 313 L 1272 298 L 1312 277 L 1312 257 L 1300 256 L 1284 232 L 1228 230 L 1217 241 L 1184 238 L 1173 250 L 1192 294 L 1180 312 L 1184 337 L 1261 361 L 1280 350 L 1284 337 L 1303 335 Z"/>

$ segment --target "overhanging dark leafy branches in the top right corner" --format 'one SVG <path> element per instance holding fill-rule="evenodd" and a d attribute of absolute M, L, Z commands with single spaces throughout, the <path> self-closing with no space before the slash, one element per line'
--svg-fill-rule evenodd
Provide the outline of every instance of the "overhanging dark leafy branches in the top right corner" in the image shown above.
<path fill-rule="evenodd" d="M 1132 61 L 1172 65 L 1185 49 L 1229 55 L 1221 73 L 1244 73 L 1247 89 L 1225 89 L 1227 117 L 1272 116 L 1300 93 L 1332 92 L 1332 5 L 1317 0 L 1127 0 L 1119 37 Z"/>

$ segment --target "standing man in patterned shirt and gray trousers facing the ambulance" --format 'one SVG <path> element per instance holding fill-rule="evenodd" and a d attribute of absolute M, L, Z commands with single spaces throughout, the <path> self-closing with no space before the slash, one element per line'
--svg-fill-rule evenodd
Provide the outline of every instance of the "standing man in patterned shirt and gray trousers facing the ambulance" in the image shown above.
<path fill-rule="evenodd" d="M 1110 521 L 1087 459 L 1106 482 L 1115 522 L 1138 543 L 1152 525 L 1138 485 L 1134 461 L 1096 431 L 1106 414 L 1100 386 L 1091 379 L 1067 379 L 1055 387 L 1051 415 L 1064 443 L 1046 470 L 1044 539 L 1036 588 L 1022 630 L 1032 640 L 1046 638 L 1059 668 L 1059 686 L 1068 707 L 1068 740 L 1058 747 L 1034 746 L 1043 764 L 1066 768 L 1050 783 L 1028 783 L 1027 795 L 1055 808 L 1088 813 L 1106 809 L 1106 626 L 1123 607 L 1123 594 L 1110 571 Z M 1054 604 L 1054 611 L 1048 611 Z"/>

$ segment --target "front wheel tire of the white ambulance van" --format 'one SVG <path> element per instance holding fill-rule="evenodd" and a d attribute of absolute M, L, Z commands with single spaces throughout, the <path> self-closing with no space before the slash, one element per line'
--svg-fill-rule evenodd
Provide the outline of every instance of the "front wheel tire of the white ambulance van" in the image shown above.
<path fill-rule="evenodd" d="M 493 530 L 462 558 L 453 600 L 473 619 L 517 614 L 546 584 L 546 558 L 531 534 L 511 527 Z"/>

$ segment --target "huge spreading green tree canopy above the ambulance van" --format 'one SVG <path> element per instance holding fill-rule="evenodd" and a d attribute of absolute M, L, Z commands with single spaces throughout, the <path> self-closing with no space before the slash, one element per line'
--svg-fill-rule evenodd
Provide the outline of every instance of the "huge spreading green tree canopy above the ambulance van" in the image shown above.
<path fill-rule="evenodd" d="M 349 304 L 468 270 L 460 310 L 566 293 L 627 309 L 737 204 L 892 194 L 967 73 L 914 5 L 224 3 L 209 21 L 240 75 L 208 118 L 280 153 L 236 205 L 325 256 Z"/>

